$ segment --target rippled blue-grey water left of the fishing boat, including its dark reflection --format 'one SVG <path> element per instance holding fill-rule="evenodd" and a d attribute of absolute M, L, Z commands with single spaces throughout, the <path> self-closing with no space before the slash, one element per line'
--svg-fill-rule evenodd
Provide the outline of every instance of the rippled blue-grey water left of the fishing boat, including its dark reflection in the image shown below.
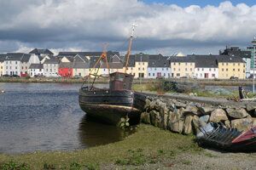
<path fill-rule="evenodd" d="M 79 87 L 0 83 L 0 153 L 84 149 L 131 133 L 89 120 L 79 108 Z"/>

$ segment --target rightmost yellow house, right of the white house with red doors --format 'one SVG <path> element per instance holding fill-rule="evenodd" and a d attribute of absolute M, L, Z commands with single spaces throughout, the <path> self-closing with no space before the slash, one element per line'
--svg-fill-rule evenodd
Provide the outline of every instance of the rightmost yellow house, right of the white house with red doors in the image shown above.
<path fill-rule="evenodd" d="M 230 79 L 230 77 L 246 78 L 246 62 L 240 57 L 218 55 L 218 78 Z"/>

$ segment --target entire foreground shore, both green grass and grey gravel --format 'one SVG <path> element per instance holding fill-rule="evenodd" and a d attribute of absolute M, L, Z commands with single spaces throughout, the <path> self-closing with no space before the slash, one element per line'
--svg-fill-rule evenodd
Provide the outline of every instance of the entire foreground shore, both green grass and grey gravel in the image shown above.
<path fill-rule="evenodd" d="M 0 154 L 0 166 L 12 161 L 26 169 L 253 169 L 256 153 L 202 149 L 194 140 L 140 124 L 124 140 L 84 150 Z"/>

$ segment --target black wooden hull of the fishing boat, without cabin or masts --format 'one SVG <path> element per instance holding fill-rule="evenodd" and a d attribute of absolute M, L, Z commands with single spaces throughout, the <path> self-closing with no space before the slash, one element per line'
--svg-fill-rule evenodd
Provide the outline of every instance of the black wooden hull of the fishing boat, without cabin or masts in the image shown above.
<path fill-rule="evenodd" d="M 122 117 L 128 116 L 130 124 L 140 121 L 146 96 L 131 90 L 80 88 L 79 105 L 88 116 L 102 122 L 119 125 Z"/>

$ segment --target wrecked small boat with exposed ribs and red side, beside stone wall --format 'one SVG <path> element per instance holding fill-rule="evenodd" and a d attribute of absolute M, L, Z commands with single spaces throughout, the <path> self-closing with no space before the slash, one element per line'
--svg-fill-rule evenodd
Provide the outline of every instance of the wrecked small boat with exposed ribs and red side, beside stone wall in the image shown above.
<path fill-rule="evenodd" d="M 232 152 L 256 151 L 256 127 L 241 132 L 236 128 L 224 127 L 222 122 L 209 122 L 206 126 L 200 127 L 200 130 L 197 139 L 202 145 Z"/>

